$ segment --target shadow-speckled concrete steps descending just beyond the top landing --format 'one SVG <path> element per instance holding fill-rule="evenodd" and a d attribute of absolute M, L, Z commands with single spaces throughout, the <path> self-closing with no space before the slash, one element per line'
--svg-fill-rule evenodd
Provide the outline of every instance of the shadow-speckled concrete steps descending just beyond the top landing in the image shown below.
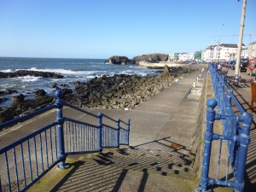
<path fill-rule="evenodd" d="M 102 153 L 72 155 L 73 160 L 86 160 L 102 166 L 121 167 L 125 170 L 150 172 L 167 177 L 195 180 L 189 161 L 182 155 L 145 148 L 108 148 Z"/>

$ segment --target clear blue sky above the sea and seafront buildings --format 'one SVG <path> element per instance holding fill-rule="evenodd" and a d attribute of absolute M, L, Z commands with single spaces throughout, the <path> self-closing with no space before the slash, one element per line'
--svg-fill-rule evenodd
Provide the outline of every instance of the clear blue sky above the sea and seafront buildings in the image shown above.
<path fill-rule="evenodd" d="M 0 56 L 132 58 L 237 44 L 242 0 L 0 0 Z M 256 40 L 256 0 L 244 33 Z M 244 44 L 250 43 L 245 35 Z"/>

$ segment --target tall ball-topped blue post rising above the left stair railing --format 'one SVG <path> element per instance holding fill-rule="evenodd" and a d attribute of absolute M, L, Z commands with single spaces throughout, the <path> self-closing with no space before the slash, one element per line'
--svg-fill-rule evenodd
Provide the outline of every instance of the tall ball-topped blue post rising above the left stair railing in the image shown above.
<path fill-rule="evenodd" d="M 63 100 L 61 99 L 62 97 L 62 91 L 61 90 L 56 90 L 55 91 L 55 106 L 57 108 L 57 118 L 56 122 L 58 123 L 58 142 L 59 142 L 59 156 L 58 160 L 61 162 L 58 164 L 59 169 L 67 169 L 69 167 L 69 164 L 66 163 L 66 158 L 67 155 L 65 154 L 65 143 L 64 143 L 64 131 L 63 131 L 63 124 L 64 124 L 64 119 L 63 119 L 63 113 L 62 113 L 62 108 L 63 108 Z"/>

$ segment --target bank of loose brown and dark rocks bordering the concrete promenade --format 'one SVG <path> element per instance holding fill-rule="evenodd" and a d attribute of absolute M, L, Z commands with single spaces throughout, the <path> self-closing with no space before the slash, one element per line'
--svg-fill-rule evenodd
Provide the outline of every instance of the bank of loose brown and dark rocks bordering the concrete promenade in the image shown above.
<path fill-rule="evenodd" d="M 168 72 L 159 76 L 138 77 L 137 75 L 114 75 L 92 79 L 90 82 L 76 82 L 75 94 L 68 102 L 86 108 L 131 109 L 140 102 L 164 90 L 174 79 L 189 73 L 189 68 L 177 67 L 175 73 Z"/>

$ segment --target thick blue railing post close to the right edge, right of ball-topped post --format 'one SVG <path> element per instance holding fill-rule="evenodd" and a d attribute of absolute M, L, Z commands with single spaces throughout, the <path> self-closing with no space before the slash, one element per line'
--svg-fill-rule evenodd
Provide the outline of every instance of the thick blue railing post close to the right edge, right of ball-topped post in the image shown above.
<path fill-rule="evenodd" d="M 237 160 L 237 174 L 235 180 L 235 192 L 242 192 L 244 189 L 244 173 L 246 171 L 247 161 L 247 149 L 250 143 L 250 127 L 253 122 L 253 115 L 251 113 L 243 113 L 239 118 L 242 122 L 241 132 L 238 137 L 240 147 L 238 149 L 238 160 Z"/>

